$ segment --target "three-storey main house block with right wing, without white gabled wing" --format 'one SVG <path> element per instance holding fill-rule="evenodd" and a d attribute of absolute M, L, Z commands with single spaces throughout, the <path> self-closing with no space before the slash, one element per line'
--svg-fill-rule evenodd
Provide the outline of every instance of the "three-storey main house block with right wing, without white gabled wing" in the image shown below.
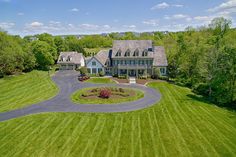
<path fill-rule="evenodd" d="M 117 75 L 152 75 L 154 68 L 166 75 L 167 58 L 165 49 L 153 46 L 151 40 L 116 40 L 113 42 L 111 67 Z"/>

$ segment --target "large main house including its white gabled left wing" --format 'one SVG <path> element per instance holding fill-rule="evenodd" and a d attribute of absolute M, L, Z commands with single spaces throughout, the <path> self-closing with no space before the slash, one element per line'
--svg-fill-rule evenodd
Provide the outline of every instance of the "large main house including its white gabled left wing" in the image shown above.
<path fill-rule="evenodd" d="M 167 65 L 164 47 L 153 46 L 151 40 L 115 40 L 112 49 L 102 50 L 85 59 L 90 74 L 104 71 L 107 75 L 138 77 L 152 75 L 154 68 L 159 68 L 160 74 L 166 75 Z"/>

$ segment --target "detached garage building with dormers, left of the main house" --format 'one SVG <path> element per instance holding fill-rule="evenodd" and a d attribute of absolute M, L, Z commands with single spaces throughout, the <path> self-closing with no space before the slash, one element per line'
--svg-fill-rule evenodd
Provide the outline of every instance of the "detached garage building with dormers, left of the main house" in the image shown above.
<path fill-rule="evenodd" d="M 75 70 L 76 68 L 85 66 L 85 58 L 82 53 L 61 52 L 57 64 L 60 70 Z"/>

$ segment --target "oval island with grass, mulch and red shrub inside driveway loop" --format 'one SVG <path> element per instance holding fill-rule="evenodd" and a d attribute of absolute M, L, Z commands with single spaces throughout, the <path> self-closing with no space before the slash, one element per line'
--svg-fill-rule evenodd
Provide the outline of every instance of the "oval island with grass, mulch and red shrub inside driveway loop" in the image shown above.
<path fill-rule="evenodd" d="M 71 99 L 80 104 L 113 104 L 138 100 L 144 93 L 137 89 L 120 87 L 84 88 L 72 94 Z"/>

